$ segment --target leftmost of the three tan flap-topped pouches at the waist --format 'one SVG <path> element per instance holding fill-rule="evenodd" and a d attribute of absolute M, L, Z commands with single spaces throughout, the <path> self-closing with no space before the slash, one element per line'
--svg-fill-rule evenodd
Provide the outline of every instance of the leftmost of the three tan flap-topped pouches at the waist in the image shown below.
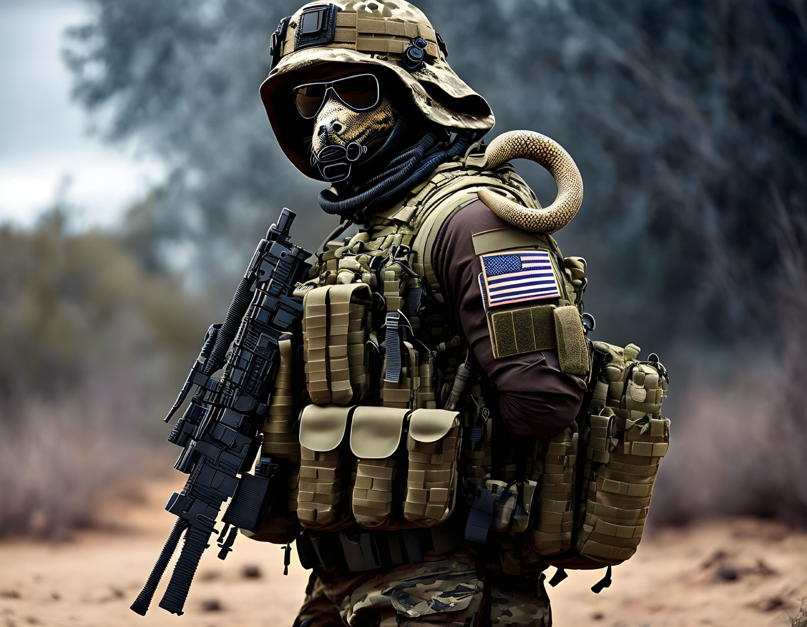
<path fill-rule="evenodd" d="M 345 433 L 353 409 L 307 405 L 300 416 L 297 517 L 306 529 L 332 531 L 349 524 L 353 457 Z"/>

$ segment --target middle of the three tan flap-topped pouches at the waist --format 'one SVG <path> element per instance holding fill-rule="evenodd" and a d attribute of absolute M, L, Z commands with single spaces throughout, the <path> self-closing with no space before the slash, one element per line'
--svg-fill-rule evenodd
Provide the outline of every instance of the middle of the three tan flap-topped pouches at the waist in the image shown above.
<path fill-rule="evenodd" d="M 400 508 L 403 486 L 397 474 L 405 463 L 399 452 L 407 413 L 391 407 L 358 407 L 353 412 L 350 450 L 358 459 L 353 517 L 367 529 L 392 525 Z"/>

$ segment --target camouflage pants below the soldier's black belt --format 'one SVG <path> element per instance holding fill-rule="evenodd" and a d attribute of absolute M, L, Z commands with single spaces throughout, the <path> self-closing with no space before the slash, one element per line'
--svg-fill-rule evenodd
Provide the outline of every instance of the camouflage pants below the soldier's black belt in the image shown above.
<path fill-rule="evenodd" d="M 541 579 L 484 573 L 470 554 L 387 571 L 314 571 L 295 627 L 550 627 Z"/>

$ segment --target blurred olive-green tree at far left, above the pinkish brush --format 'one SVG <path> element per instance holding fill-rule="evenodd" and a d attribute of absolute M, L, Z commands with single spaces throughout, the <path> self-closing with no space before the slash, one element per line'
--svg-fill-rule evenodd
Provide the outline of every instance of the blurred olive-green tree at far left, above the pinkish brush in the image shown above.
<path fill-rule="evenodd" d="M 0 354 L 14 355 L 0 359 L 0 399 L 53 399 L 115 371 L 173 392 L 206 309 L 178 280 L 147 275 L 124 240 L 70 235 L 67 220 L 56 207 L 31 232 L 0 227 Z"/>

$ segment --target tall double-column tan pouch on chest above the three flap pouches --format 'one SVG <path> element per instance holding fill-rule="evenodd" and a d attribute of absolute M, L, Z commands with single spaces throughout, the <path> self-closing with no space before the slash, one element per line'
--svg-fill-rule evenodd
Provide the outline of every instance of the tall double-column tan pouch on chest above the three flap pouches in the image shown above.
<path fill-rule="evenodd" d="M 366 341 L 370 287 L 324 285 L 303 297 L 303 357 L 308 396 L 316 405 L 356 404 L 370 384 Z"/>

